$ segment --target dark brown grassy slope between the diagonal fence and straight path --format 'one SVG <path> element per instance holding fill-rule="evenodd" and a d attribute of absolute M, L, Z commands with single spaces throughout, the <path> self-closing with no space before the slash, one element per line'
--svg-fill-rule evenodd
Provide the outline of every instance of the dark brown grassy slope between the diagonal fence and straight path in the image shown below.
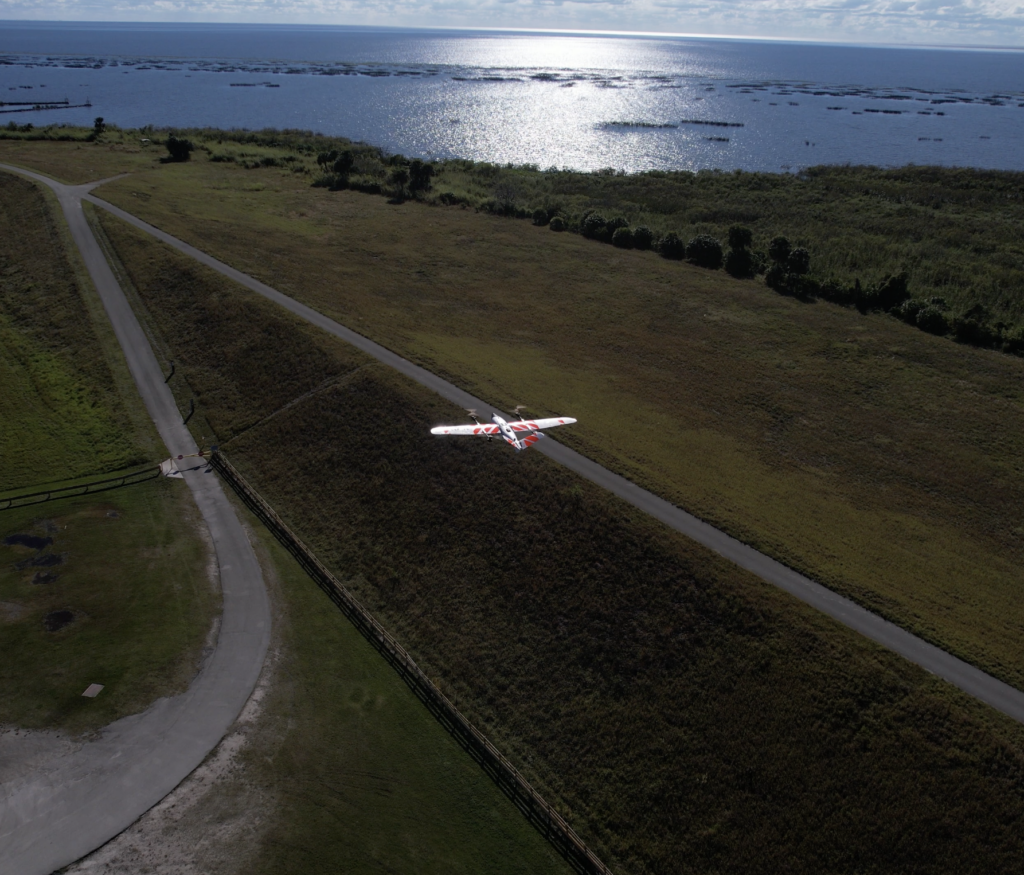
<path fill-rule="evenodd" d="M 458 411 L 102 223 L 197 427 L 616 871 L 1019 868 L 1019 726 L 539 454 L 424 440 Z"/>

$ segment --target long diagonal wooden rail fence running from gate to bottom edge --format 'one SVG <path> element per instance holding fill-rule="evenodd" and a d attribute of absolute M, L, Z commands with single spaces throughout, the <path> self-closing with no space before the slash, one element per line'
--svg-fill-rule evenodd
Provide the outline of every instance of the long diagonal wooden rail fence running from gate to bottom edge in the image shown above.
<path fill-rule="evenodd" d="M 246 506 L 298 560 L 313 581 L 388 661 L 437 720 L 464 750 L 490 776 L 568 864 L 583 875 L 611 875 L 611 871 L 584 843 L 563 819 L 530 787 L 516 767 L 459 711 L 373 615 L 367 611 L 328 568 L 285 525 L 273 508 L 220 453 L 210 460 Z"/>

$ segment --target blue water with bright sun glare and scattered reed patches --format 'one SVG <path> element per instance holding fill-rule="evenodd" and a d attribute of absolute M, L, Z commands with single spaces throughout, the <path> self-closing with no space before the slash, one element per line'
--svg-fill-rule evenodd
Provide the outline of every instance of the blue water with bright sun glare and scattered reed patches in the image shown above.
<path fill-rule="evenodd" d="M 0 23 L 0 123 L 303 128 L 627 171 L 1024 170 L 1024 53 L 339 27 Z"/>

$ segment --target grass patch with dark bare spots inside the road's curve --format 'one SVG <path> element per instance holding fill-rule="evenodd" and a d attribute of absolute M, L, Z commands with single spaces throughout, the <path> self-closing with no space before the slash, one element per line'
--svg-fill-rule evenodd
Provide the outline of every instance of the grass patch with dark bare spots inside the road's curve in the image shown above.
<path fill-rule="evenodd" d="M 0 723 L 84 732 L 183 692 L 220 602 L 202 525 L 162 480 L 0 512 Z M 2 545 L 17 534 L 53 542 Z M 47 630 L 60 611 L 74 622 Z"/>

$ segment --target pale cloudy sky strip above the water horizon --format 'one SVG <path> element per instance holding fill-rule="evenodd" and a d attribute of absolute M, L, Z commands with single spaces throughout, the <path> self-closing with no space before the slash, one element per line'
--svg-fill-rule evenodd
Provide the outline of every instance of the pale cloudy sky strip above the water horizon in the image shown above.
<path fill-rule="evenodd" d="M 3 19 L 500 28 L 1024 47 L 1024 0 L 0 0 Z"/>

